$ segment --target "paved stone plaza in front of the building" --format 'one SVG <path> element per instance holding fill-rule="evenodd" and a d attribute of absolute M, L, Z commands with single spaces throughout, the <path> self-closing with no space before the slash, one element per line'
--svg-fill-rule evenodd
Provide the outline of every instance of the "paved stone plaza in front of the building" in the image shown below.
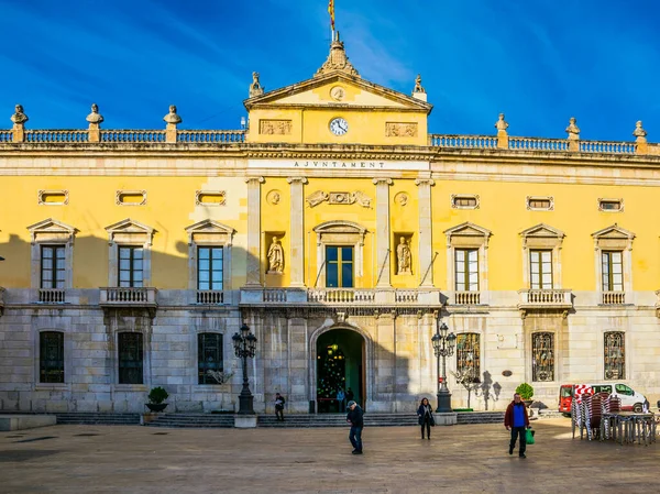
<path fill-rule="evenodd" d="M 2 493 L 654 492 L 660 443 L 571 439 L 570 420 L 535 422 L 528 458 L 503 426 L 154 429 L 54 426 L 0 432 Z"/>

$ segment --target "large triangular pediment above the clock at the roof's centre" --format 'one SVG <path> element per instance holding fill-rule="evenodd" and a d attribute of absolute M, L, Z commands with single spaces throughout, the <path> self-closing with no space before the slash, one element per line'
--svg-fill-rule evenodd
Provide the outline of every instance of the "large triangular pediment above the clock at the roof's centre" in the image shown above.
<path fill-rule="evenodd" d="M 389 108 L 430 113 L 432 105 L 342 72 L 329 73 L 302 83 L 246 99 L 245 108 Z"/>

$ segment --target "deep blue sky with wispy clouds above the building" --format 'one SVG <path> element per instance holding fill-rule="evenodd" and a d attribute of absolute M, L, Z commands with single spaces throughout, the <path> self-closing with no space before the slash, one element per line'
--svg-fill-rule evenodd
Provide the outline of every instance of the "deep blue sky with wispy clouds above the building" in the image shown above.
<path fill-rule="evenodd" d="M 660 141 L 660 6 L 650 0 L 336 0 L 363 78 L 409 94 L 421 73 L 429 130 Z M 327 0 L 0 0 L 0 128 L 238 129 L 253 70 L 266 90 L 328 54 Z M 3 123 L 2 123 L 3 122 Z"/>

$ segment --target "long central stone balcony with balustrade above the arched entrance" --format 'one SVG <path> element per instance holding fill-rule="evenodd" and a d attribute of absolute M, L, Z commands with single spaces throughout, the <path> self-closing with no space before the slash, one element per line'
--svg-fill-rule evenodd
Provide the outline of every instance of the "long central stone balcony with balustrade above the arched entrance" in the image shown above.
<path fill-rule="evenodd" d="M 242 289 L 241 305 L 440 306 L 438 289 L 257 288 Z"/>

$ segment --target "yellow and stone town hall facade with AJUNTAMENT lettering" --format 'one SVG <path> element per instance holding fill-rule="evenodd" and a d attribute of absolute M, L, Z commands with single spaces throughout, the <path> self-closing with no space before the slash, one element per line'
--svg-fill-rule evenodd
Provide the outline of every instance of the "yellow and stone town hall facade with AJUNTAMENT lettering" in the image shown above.
<path fill-rule="evenodd" d="M 95 106 L 96 107 L 96 106 Z M 528 382 L 660 395 L 660 146 L 429 134 L 411 96 L 336 40 L 309 80 L 264 92 L 244 131 L 0 131 L 0 408 L 234 410 L 231 336 L 257 338 L 257 411 L 410 411 L 457 334 L 453 405 Z M 212 378 L 223 372 L 224 382 Z"/>

